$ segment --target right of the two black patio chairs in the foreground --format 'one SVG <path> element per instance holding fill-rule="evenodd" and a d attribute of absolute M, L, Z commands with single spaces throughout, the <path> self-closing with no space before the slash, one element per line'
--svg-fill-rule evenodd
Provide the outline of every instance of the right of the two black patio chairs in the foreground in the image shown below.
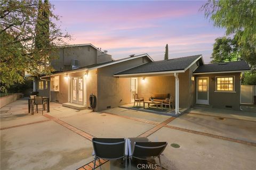
<path fill-rule="evenodd" d="M 131 169 L 131 159 L 137 158 L 142 160 L 155 159 L 158 157 L 160 168 L 162 170 L 162 164 L 160 156 L 167 146 L 167 142 L 134 142 L 133 147 L 131 147 L 131 140 L 128 140 L 128 150 L 129 150 L 129 166 Z"/>

